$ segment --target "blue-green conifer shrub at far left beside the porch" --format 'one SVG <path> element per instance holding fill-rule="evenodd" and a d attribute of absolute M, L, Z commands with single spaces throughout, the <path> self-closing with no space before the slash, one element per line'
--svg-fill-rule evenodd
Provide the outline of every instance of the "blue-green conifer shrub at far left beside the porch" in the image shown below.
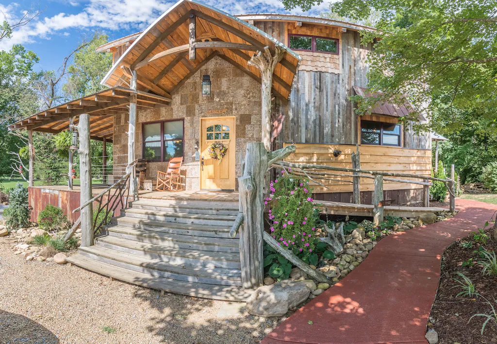
<path fill-rule="evenodd" d="M 7 228 L 12 230 L 29 227 L 32 209 L 28 203 L 28 189 L 17 183 L 9 192 L 9 204 L 3 212 Z"/>

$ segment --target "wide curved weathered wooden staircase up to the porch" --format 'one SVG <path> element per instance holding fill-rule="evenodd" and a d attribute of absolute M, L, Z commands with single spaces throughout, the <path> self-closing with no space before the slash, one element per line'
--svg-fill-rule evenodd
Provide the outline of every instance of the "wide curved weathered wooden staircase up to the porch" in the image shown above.
<path fill-rule="evenodd" d="M 241 287 L 238 236 L 229 237 L 237 214 L 238 202 L 142 199 L 67 260 L 157 290 L 245 301 L 252 291 Z"/>

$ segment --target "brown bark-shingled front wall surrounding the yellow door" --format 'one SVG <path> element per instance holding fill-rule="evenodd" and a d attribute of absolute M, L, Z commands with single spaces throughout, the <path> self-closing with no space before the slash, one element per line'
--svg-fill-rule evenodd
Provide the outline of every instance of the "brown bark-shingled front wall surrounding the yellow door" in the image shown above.
<path fill-rule="evenodd" d="M 210 98 L 203 98 L 201 94 L 203 75 L 210 75 L 211 78 Z M 171 106 L 137 112 L 136 157 L 142 158 L 143 122 L 184 119 L 183 181 L 186 184 L 186 190 L 198 190 L 200 189 L 200 164 L 199 161 L 195 161 L 194 154 L 195 141 L 200 140 L 200 118 L 236 116 L 236 177 L 240 177 L 240 154 L 245 154 L 248 142 L 261 140 L 260 84 L 230 63 L 215 57 L 188 79 L 171 97 Z M 222 115 L 207 114 L 209 110 L 223 109 L 227 111 Z M 127 154 L 128 152 L 126 133 L 128 118 L 128 115 L 114 116 L 114 155 Z M 115 156 L 114 173 L 116 175 L 122 175 L 121 166 L 117 164 L 126 162 L 127 156 Z M 165 171 L 166 167 L 166 162 L 147 163 L 147 179 L 155 180 L 157 171 Z"/>

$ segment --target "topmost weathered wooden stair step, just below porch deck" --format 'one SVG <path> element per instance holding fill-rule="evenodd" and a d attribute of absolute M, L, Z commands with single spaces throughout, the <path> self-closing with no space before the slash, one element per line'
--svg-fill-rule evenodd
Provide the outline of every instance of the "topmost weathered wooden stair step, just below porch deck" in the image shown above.
<path fill-rule="evenodd" d="M 238 202 L 199 202 L 176 203 L 170 200 L 142 199 L 131 203 L 133 209 L 146 209 L 161 212 L 207 214 L 207 215 L 234 215 L 239 213 Z"/>

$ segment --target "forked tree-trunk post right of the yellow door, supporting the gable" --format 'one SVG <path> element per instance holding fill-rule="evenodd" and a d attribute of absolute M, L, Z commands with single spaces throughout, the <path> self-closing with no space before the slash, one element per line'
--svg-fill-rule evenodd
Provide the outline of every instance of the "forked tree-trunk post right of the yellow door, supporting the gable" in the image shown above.
<path fill-rule="evenodd" d="M 276 46 L 274 56 L 269 51 L 269 47 L 264 47 L 264 53 L 257 51 L 257 54 L 247 62 L 249 66 L 257 67 L 261 76 L 261 126 L 262 142 L 266 150 L 271 151 L 271 87 L 273 71 L 276 64 L 283 58 L 283 48 Z"/>

